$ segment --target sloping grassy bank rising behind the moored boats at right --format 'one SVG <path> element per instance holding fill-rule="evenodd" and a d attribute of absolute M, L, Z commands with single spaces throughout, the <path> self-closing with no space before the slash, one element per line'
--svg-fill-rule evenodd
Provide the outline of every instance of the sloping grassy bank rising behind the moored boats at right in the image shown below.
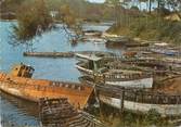
<path fill-rule="evenodd" d="M 166 41 L 179 45 L 181 41 L 181 22 L 148 15 L 130 17 L 126 24 L 113 25 L 107 33 L 140 38 L 141 40 Z"/>

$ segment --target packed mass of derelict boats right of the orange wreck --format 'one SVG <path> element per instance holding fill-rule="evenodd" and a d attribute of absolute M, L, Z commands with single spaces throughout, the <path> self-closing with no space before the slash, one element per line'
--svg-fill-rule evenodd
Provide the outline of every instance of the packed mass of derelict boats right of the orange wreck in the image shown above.
<path fill-rule="evenodd" d="M 76 67 L 82 74 L 80 80 L 95 85 L 100 100 L 111 106 L 121 109 L 124 101 L 127 110 L 180 115 L 180 53 L 178 47 L 152 43 L 129 48 L 122 55 L 77 54 Z"/>

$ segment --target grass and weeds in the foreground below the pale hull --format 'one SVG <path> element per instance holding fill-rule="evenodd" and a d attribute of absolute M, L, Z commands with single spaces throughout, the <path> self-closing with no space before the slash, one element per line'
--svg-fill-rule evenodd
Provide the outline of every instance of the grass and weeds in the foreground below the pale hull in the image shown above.
<path fill-rule="evenodd" d="M 101 116 L 98 115 L 98 118 L 100 117 Z M 103 104 L 102 117 L 100 119 L 102 119 L 107 127 L 174 127 L 176 125 L 170 122 L 177 119 L 177 117 L 163 117 L 154 109 L 145 114 L 126 110 L 124 114 L 120 115 L 119 110 Z"/>

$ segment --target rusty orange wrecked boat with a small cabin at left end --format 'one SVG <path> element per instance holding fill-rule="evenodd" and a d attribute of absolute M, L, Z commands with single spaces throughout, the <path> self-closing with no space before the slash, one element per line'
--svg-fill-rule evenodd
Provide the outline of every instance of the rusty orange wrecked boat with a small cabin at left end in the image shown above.
<path fill-rule="evenodd" d="M 34 68 L 15 65 L 10 74 L 0 73 L 0 90 L 12 96 L 38 102 L 40 98 L 67 98 L 75 107 L 83 109 L 91 97 L 92 87 L 76 84 L 33 79 Z"/>

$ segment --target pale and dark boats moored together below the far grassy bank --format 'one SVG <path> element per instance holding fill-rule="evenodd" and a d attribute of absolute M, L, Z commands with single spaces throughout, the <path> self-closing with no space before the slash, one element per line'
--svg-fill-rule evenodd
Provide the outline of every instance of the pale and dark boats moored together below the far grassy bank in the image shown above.
<path fill-rule="evenodd" d="M 109 35 L 100 30 L 83 30 L 81 40 L 98 45 L 105 43 L 107 48 L 147 47 L 150 43 L 127 36 Z"/>

